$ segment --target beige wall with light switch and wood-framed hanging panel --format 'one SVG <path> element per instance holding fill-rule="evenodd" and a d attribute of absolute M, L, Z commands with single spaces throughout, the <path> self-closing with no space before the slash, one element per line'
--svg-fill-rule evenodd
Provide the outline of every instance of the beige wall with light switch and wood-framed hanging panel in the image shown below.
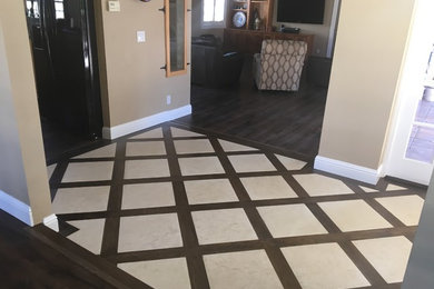
<path fill-rule="evenodd" d="M 103 71 L 107 71 L 107 86 L 102 88 L 105 127 L 189 104 L 190 67 L 188 73 L 171 78 L 166 78 L 165 70 L 160 69 L 166 64 L 164 13 L 158 11 L 164 6 L 162 0 L 120 0 L 120 12 L 107 11 L 107 0 L 96 1 L 99 1 L 96 13 L 102 87 Z M 190 13 L 187 17 L 189 62 Z M 137 43 L 138 30 L 146 31 L 145 43 Z M 166 104 L 168 94 L 171 96 L 170 106 Z"/>

